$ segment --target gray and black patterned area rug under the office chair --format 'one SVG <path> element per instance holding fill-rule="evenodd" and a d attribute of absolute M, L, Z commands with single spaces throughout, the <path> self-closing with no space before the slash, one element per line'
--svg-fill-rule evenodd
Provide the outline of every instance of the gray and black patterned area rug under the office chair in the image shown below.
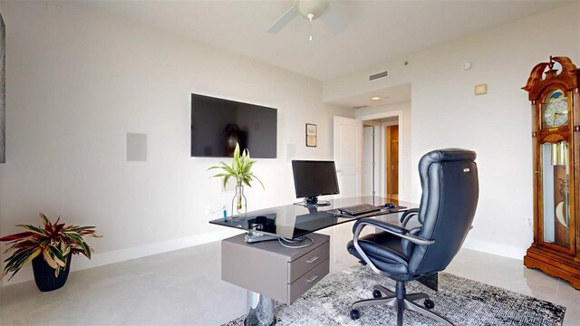
<path fill-rule="evenodd" d="M 291 306 L 275 307 L 275 324 L 280 325 L 396 325 L 395 310 L 384 306 L 362 307 L 358 321 L 350 319 L 351 303 L 372 298 L 372 286 L 380 283 L 394 289 L 394 281 L 353 266 L 332 273 L 314 285 Z M 435 302 L 433 312 L 455 325 L 562 325 L 565 307 L 517 292 L 440 273 L 439 292 L 417 283 L 407 283 L 407 293 L 426 292 Z M 422 300 L 418 301 L 422 304 Z M 246 316 L 224 326 L 244 325 Z M 405 311 L 405 325 L 440 325 L 417 312 Z"/>

